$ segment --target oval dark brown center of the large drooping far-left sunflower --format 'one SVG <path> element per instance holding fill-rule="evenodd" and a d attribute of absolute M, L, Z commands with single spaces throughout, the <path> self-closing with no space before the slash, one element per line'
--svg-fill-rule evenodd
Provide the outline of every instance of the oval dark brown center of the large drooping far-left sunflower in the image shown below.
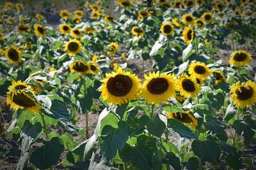
<path fill-rule="evenodd" d="M 20 94 L 14 94 L 12 97 L 13 103 L 22 106 L 24 108 L 31 108 L 33 106 L 36 106 L 35 101 L 30 99 L 28 96 L 26 96 L 23 93 Z"/>

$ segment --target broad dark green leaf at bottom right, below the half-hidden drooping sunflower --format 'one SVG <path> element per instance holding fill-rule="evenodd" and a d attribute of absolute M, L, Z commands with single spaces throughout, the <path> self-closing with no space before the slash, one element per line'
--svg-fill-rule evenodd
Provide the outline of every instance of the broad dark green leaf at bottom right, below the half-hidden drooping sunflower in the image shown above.
<path fill-rule="evenodd" d="M 205 161 L 216 163 L 219 161 L 221 150 L 214 141 L 195 140 L 191 146 L 196 156 Z"/>

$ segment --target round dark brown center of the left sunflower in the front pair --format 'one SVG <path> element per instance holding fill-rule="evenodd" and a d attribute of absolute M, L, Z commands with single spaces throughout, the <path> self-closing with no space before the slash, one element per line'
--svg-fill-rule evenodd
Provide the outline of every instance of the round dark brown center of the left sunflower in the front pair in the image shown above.
<path fill-rule="evenodd" d="M 107 89 L 113 96 L 125 96 L 132 89 L 132 80 L 129 76 L 118 74 L 115 77 L 109 78 Z"/>

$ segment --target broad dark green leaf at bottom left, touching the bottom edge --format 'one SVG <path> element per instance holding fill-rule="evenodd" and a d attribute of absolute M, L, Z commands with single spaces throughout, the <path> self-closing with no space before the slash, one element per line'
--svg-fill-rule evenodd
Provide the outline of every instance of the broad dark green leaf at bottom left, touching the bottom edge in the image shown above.
<path fill-rule="evenodd" d="M 39 169 L 47 169 L 58 162 L 64 150 L 61 138 L 54 137 L 46 141 L 45 145 L 37 148 L 32 154 L 30 161 Z"/>

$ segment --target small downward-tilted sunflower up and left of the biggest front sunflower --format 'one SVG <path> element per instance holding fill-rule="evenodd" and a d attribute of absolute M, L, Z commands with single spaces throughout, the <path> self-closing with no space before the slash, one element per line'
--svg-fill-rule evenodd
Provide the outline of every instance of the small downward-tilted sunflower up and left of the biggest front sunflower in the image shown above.
<path fill-rule="evenodd" d="M 70 71 L 73 73 L 79 73 L 83 76 L 91 72 L 90 66 L 81 60 L 73 62 L 70 66 Z"/>

